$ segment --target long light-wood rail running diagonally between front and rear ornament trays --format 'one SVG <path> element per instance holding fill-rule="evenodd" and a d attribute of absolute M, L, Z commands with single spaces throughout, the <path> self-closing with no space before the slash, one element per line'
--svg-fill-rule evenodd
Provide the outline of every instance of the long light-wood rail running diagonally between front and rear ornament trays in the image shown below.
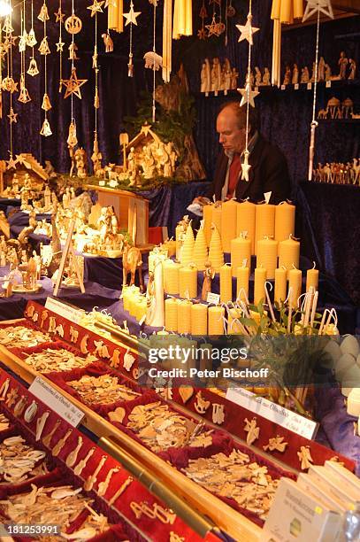
<path fill-rule="evenodd" d="M 13 321 L 4 321 L 2 323 L 13 323 Z M 49 383 L 57 392 L 61 393 L 85 414 L 82 424 L 100 438 L 99 445 L 107 442 L 109 443 L 106 445 L 107 449 L 114 446 L 115 448 L 119 448 L 119 451 L 125 450 L 134 460 L 139 461 L 145 468 L 148 468 L 151 473 L 157 476 L 172 492 L 180 496 L 188 505 L 194 507 L 201 515 L 210 518 L 213 523 L 235 540 L 256 542 L 260 539 L 262 529 L 255 523 L 241 515 L 234 508 L 226 505 L 226 503 L 203 489 L 203 487 L 195 484 L 195 482 L 181 474 L 176 468 L 157 457 L 155 453 L 150 452 L 145 446 L 139 445 L 133 438 L 123 433 L 110 422 L 104 420 L 78 399 L 75 399 L 69 393 L 59 388 L 57 384 L 51 382 L 46 376 L 41 375 L 34 368 L 28 366 L 25 361 L 21 360 L 3 345 L 0 345 L 0 360 L 4 362 L 6 367 L 10 368 L 16 375 L 29 384 L 34 381 L 36 376 L 41 376 L 44 381 Z"/>

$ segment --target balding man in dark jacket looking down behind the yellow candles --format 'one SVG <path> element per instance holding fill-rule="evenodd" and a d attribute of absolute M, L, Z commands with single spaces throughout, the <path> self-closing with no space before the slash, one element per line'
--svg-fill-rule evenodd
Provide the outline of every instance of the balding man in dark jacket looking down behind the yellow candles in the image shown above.
<path fill-rule="evenodd" d="M 215 174 L 208 197 L 237 201 L 249 197 L 253 202 L 264 201 L 271 192 L 269 203 L 278 204 L 290 197 L 291 185 L 287 160 L 282 152 L 267 142 L 257 131 L 257 112 L 249 107 L 249 181 L 241 178 L 241 163 L 246 145 L 247 105 L 239 102 L 223 105 L 218 113 L 217 132 L 223 149 L 218 155 Z M 200 199 L 201 201 L 201 199 Z M 194 203 L 199 202 L 196 198 Z"/>

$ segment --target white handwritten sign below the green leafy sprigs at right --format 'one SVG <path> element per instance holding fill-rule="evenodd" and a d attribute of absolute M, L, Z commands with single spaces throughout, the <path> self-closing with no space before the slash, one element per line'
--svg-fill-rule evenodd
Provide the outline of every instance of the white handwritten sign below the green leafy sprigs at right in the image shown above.
<path fill-rule="evenodd" d="M 287 430 L 293 431 L 293 433 L 302 437 L 312 440 L 317 434 L 317 422 L 313 422 L 268 399 L 257 397 L 252 391 L 242 388 L 229 388 L 226 392 L 226 399 L 263 416 L 266 420 L 278 423 L 281 427 L 285 427 Z"/>

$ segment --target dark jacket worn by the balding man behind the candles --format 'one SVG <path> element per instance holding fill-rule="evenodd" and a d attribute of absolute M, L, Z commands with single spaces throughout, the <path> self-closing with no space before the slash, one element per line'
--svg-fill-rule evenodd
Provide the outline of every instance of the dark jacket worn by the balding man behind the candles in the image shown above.
<path fill-rule="evenodd" d="M 228 158 L 223 150 L 218 155 L 214 179 L 207 194 L 212 199 L 221 199 L 221 190 L 226 179 Z M 280 149 L 267 142 L 259 134 L 257 143 L 249 155 L 249 182 L 241 181 L 236 185 L 237 201 L 249 197 L 254 203 L 264 200 L 264 192 L 272 191 L 271 204 L 279 204 L 290 198 L 291 183 L 287 170 L 287 160 Z"/>

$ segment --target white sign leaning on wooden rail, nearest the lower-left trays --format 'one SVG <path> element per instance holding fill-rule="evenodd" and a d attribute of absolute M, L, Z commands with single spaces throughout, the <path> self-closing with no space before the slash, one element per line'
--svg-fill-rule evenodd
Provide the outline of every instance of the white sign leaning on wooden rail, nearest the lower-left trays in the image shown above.
<path fill-rule="evenodd" d="M 55 390 L 50 383 L 47 383 L 40 376 L 36 376 L 34 382 L 29 387 L 29 391 L 31 391 L 35 397 L 42 400 L 45 405 L 50 406 L 52 410 L 64 418 L 66 422 L 69 422 L 73 427 L 77 427 L 84 417 L 84 413 L 81 412 L 77 406 L 74 406 L 73 403 L 66 399 L 59 391 Z"/>

